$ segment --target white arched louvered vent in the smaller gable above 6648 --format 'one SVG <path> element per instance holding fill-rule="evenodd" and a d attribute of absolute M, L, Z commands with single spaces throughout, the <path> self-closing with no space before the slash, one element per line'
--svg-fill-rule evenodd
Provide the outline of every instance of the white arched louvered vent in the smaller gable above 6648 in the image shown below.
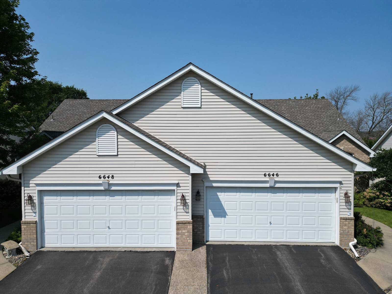
<path fill-rule="evenodd" d="M 117 131 L 113 125 L 100 125 L 96 133 L 97 155 L 117 155 Z"/>

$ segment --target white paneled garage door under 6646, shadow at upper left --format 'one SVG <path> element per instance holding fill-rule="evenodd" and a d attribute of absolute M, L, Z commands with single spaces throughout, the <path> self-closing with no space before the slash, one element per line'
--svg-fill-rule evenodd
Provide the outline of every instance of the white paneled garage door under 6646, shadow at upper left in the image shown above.
<path fill-rule="evenodd" d="M 335 188 L 206 189 L 209 241 L 335 241 Z"/>

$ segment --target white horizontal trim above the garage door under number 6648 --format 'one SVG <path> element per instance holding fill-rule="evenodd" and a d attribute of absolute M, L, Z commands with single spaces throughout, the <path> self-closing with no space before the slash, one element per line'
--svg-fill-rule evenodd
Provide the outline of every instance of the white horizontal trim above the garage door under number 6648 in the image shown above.
<path fill-rule="evenodd" d="M 105 190 L 102 181 L 51 183 L 33 182 L 37 190 Z M 175 190 L 176 182 L 110 182 L 108 190 Z"/>

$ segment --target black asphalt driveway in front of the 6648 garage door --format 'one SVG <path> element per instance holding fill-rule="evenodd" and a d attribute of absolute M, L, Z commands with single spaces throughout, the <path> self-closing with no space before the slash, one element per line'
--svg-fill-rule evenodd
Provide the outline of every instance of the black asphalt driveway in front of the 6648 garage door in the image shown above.
<path fill-rule="evenodd" d="M 167 293 L 175 252 L 37 251 L 0 293 Z"/>

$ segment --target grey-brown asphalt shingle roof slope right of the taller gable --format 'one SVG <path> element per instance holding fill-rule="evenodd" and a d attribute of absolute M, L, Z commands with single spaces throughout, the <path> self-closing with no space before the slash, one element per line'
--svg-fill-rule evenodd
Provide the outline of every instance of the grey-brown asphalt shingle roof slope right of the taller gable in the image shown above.
<path fill-rule="evenodd" d="M 328 99 L 260 99 L 256 101 L 325 141 L 329 141 L 339 132 L 346 130 L 365 144 Z"/>

